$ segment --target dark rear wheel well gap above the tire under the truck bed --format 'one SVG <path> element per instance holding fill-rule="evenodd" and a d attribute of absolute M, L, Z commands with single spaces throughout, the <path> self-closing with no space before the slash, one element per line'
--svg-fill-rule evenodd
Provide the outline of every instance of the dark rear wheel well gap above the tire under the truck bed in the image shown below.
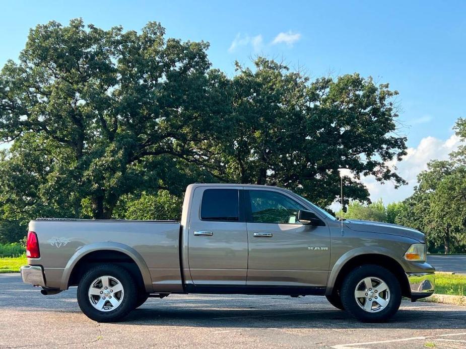
<path fill-rule="evenodd" d="M 144 289 L 144 280 L 138 265 L 130 256 L 123 252 L 113 250 L 98 250 L 83 256 L 73 268 L 68 287 L 77 286 L 83 275 L 93 266 L 111 263 L 125 268 L 135 279 L 139 288 Z"/>

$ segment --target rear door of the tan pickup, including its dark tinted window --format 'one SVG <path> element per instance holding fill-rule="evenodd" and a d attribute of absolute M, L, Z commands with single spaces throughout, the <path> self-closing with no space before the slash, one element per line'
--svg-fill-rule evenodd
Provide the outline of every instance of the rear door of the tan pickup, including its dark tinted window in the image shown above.
<path fill-rule="evenodd" d="M 197 187 L 188 259 L 194 285 L 246 285 L 247 231 L 241 187 Z"/>

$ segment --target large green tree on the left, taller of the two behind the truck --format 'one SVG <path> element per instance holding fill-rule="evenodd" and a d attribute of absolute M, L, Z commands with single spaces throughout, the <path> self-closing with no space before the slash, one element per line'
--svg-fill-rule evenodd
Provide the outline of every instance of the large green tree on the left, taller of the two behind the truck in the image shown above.
<path fill-rule="evenodd" d="M 224 74 L 204 42 L 38 25 L 0 74 L 0 201 L 7 216 L 110 218 L 119 198 L 211 180 L 197 148 L 222 123 Z M 220 101 L 219 101 L 220 100 Z M 188 168 L 191 170 L 192 168 Z"/>

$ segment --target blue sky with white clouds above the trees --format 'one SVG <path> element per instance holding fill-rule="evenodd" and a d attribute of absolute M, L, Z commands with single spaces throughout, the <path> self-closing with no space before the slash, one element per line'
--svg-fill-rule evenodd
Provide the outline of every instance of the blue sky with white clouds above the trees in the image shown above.
<path fill-rule="evenodd" d="M 389 82 L 400 92 L 410 154 L 398 168 L 410 186 L 394 191 L 365 179 L 372 199 L 408 196 L 429 158 L 457 146 L 451 127 L 466 117 L 466 2 L 4 2 L 0 65 L 18 57 L 29 28 L 77 17 L 131 30 L 158 21 L 167 36 L 209 41 L 213 66 L 230 76 L 235 60 L 263 54 L 313 77 L 359 72 Z"/>

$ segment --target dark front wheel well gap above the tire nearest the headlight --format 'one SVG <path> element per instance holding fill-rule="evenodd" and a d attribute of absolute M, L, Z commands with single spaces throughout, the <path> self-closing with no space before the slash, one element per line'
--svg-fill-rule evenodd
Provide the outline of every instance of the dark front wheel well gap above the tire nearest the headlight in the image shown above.
<path fill-rule="evenodd" d="M 374 261 L 376 260 L 376 262 Z M 360 267 L 364 264 L 375 264 L 380 267 L 388 269 L 392 272 L 402 288 L 402 295 L 405 297 L 411 297 L 411 289 L 406 277 L 405 271 L 402 266 L 393 258 L 384 254 L 361 254 L 348 260 L 343 268 L 340 270 L 335 281 L 334 292 L 338 292 L 345 280 L 345 277 L 356 267 Z"/>

